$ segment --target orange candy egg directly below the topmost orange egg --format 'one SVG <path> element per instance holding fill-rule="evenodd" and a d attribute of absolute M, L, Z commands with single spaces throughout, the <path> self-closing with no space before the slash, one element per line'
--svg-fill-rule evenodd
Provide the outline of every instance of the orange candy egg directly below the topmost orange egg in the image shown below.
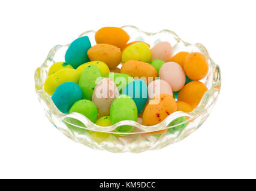
<path fill-rule="evenodd" d="M 121 63 L 121 50 L 110 44 L 97 44 L 88 50 L 90 60 L 100 60 L 109 66 L 110 69 L 115 68 Z"/>

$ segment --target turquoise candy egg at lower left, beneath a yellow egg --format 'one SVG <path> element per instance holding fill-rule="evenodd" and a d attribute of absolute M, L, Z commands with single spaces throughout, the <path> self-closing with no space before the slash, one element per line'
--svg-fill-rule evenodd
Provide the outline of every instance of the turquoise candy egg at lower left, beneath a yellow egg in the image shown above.
<path fill-rule="evenodd" d="M 71 106 L 81 99 L 82 90 L 74 82 L 65 82 L 59 85 L 52 95 L 53 103 L 62 113 L 68 113 Z"/>

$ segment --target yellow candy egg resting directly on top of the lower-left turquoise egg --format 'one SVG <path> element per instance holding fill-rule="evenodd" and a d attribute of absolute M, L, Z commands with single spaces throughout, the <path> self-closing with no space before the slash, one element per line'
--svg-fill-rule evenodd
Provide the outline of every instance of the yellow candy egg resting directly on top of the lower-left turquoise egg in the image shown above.
<path fill-rule="evenodd" d="M 61 69 L 48 76 L 44 82 L 44 91 L 52 96 L 56 88 L 64 82 L 74 82 L 78 84 L 80 73 L 75 69 Z"/>

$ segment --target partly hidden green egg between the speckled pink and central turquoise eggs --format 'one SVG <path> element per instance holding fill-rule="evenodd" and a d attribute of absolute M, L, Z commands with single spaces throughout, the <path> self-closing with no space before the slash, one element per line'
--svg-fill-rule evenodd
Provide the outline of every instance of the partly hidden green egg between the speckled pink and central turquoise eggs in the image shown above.
<path fill-rule="evenodd" d="M 125 73 L 114 73 L 110 72 L 106 78 L 110 78 L 113 82 L 115 82 L 118 87 L 119 93 L 127 87 L 127 85 L 133 81 L 133 78 Z"/>

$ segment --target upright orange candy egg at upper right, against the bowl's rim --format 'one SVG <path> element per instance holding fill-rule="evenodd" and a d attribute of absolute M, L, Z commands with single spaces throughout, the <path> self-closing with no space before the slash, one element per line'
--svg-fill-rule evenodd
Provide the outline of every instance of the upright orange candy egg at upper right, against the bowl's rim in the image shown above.
<path fill-rule="evenodd" d="M 208 73 L 208 62 L 201 53 L 190 53 L 185 58 L 183 69 L 188 78 L 198 81 L 203 79 Z"/>

